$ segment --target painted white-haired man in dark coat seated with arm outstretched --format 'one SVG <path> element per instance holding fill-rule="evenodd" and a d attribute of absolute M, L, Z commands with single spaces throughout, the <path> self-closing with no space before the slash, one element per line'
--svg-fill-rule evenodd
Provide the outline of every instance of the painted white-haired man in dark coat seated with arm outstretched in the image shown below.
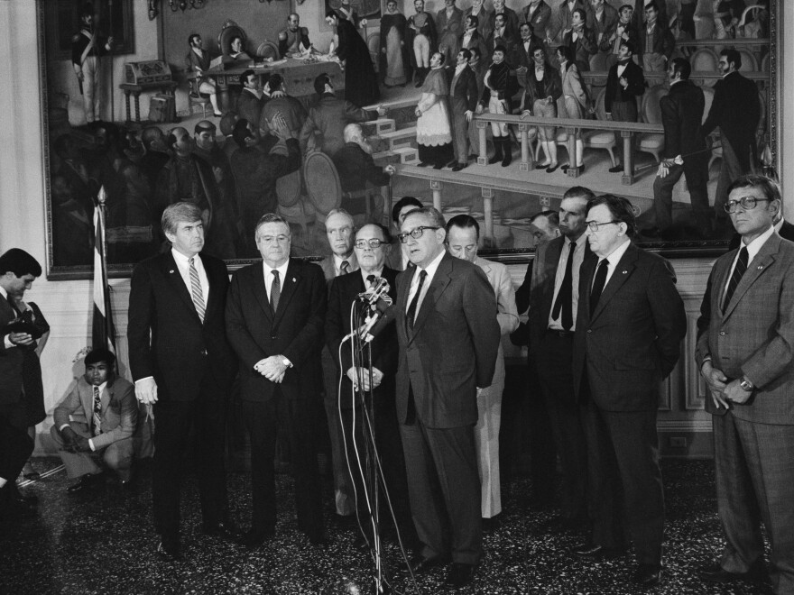
<path fill-rule="evenodd" d="M 359 124 L 345 126 L 345 146 L 337 151 L 333 159 L 342 183 L 342 192 L 364 190 L 367 182 L 375 188 L 386 186 L 395 171 L 393 165 L 385 168 L 375 165 L 372 147 Z M 365 197 L 365 200 L 368 199 Z M 374 197 L 372 218 L 375 223 L 380 223 L 383 219 L 383 204 L 381 195 Z M 366 206 L 360 198 L 347 198 L 342 206 L 353 215 L 366 212 Z"/>

